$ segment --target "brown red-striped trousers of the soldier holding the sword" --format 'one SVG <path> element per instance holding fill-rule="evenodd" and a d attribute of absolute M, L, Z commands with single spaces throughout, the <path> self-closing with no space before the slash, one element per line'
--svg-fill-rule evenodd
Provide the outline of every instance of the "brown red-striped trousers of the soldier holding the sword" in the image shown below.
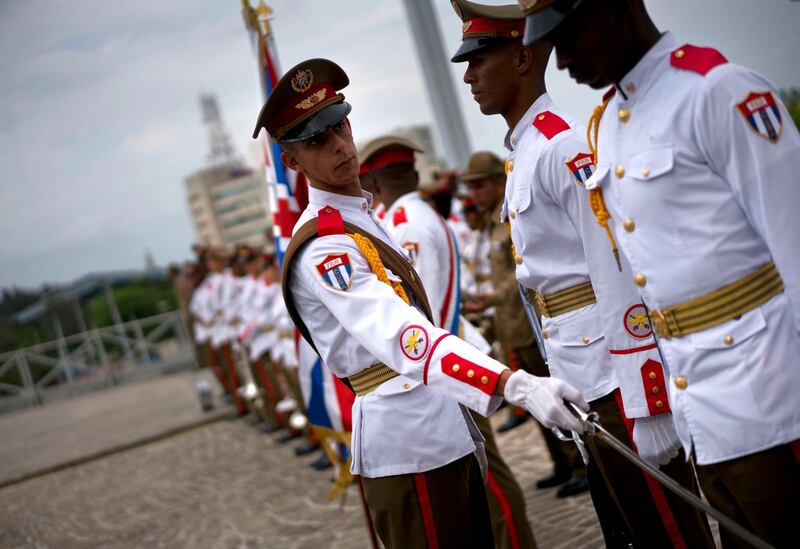
<path fill-rule="evenodd" d="M 425 473 L 361 477 L 386 549 L 491 549 L 492 524 L 475 456 Z"/>

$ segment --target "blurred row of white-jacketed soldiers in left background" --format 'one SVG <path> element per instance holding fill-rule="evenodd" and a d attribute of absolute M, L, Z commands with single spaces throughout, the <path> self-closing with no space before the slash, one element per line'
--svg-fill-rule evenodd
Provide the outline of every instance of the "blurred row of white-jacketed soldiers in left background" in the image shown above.
<path fill-rule="evenodd" d="M 198 361 L 215 373 L 240 416 L 252 414 L 278 442 L 301 436 L 299 456 L 319 448 L 306 428 L 295 330 L 280 292 L 276 258 L 255 247 L 197 245 L 179 284 Z M 327 454 L 312 463 L 331 467 Z"/>

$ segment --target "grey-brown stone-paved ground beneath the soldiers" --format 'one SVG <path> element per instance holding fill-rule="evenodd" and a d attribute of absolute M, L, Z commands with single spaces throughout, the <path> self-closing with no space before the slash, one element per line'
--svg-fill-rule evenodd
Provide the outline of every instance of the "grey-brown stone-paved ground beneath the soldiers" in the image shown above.
<path fill-rule="evenodd" d="M 172 387 L 163 397 L 174 400 L 176 391 L 183 394 L 183 412 L 172 400 L 153 396 L 155 382 L 149 381 L 114 389 L 122 391 L 116 396 L 98 393 L 58 403 L 61 420 L 51 425 L 57 432 L 38 426 L 38 448 L 30 437 L 24 444 L 17 440 L 7 445 L 10 435 L 18 434 L 9 430 L 15 418 L 0 417 L 3 471 L 25 469 L 23 449 L 33 464 L 52 466 L 64 458 L 77 463 L 50 467 L 50 473 L 0 489 L 0 548 L 369 547 L 354 487 L 344 499 L 327 502 L 330 474 L 307 467 L 316 455 L 296 458 L 291 444 L 277 444 L 247 420 L 205 422 L 196 398 L 188 398 L 193 396 L 193 379 L 177 374 L 159 382 Z M 181 384 L 185 387 L 178 389 Z M 137 392 L 149 396 L 137 398 Z M 113 420 L 105 417 L 109 402 L 116 403 Z M 50 417 L 54 412 L 46 408 L 33 410 L 45 414 L 34 417 Z M 184 420 L 191 414 L 197 426 L 186 430 Z M 495 421 L 502 421 L 504 414 Z M 176 425 L 170 415 L 181 418 L 185 430 L 169 431 Z M 14 416 L 20 425 L 31 421 L 24 414 Z M 82 418 L 81 427 L 70 417 Z M 153 436 L 157 425 L 173 434 Z M 97 432 L 103 444 L 87 442 L 88 461 L 81 463 L 75 449 L 88 440 L 92 426 L 116 431 Z M 149 442 L 131 448 L 133 435 Z M 498 442 L 523 487 L 539 546 L 602 547 L 587 495 L 560 500 L 554 490 L 534 488 L 549 464 L 533 422 L 499 435 Z M 128 447 L 113 452 L 114 443 Z"/>

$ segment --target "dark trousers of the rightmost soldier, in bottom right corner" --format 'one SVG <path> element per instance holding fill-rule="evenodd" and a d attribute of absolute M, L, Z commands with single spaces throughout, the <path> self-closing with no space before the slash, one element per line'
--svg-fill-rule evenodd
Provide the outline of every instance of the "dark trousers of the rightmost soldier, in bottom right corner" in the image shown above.
<path fill-rule="evenodd" d="M 775 547 L 797 547 L 800 518 L 800 441 L 748 456 L 698 465 L 712 507 Z M 720 528 L 722 546 L 750 547 Z"/>

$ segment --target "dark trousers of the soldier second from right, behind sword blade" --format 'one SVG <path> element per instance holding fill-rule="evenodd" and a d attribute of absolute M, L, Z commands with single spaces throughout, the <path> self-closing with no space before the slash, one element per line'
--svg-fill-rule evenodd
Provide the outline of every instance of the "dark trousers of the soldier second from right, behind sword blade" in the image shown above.
<path fill-rule="evenodd" d="M 622 413 L 619 391 L 590 403 L 600 423 L 633 446 L 630 420 Z M 627 422 L 627 424 L 626 424 Z M 613 448 L 589 437 L 589 492 L 608 547 L 715 547 L 705 515 L 673 495 Z M 694 471 L 683 452 L 661 470 L 699 494 Z"/>

